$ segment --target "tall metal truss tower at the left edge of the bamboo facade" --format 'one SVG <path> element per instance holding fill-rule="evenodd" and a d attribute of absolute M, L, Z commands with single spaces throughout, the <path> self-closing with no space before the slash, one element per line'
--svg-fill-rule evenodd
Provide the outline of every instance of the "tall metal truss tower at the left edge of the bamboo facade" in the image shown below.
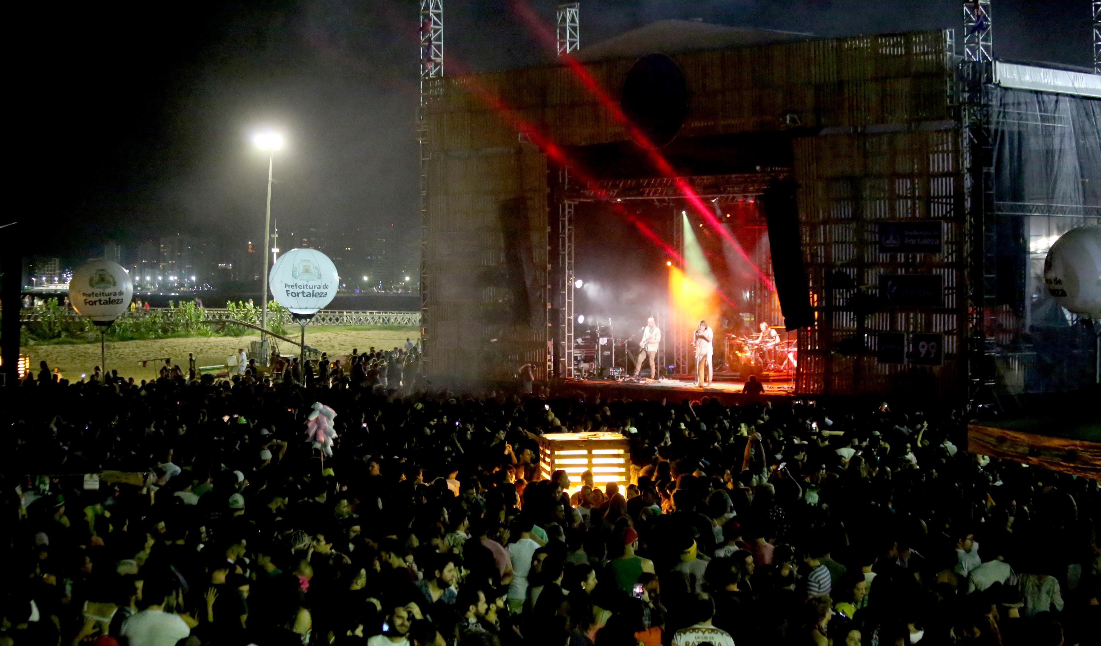
<path fill-rule="evenodd" d="M 424 370 L 428 335 L 428 123 L 425 108 L 438 88 L 430 79 L 444 76 L 444 0 L 421 0 L 421 103 L 416 115 L 416 141 L 421 149 L 421 369 Z"/>

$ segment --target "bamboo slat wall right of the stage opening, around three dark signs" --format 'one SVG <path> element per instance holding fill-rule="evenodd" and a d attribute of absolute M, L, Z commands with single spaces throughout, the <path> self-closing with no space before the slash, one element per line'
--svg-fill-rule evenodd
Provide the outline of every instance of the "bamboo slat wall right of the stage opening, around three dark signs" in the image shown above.
<path fill-rule="evenodd" d="M 816 316 L 815 327 L 799 335 L 797 391 L 958 392 L 967 334 L 959 141 L 955 129 L 796 141 L 799 222 Z M 879 253 L 877 223 L 906 220 L 942 221 L 945 253 Z M 882 307 L 881 274 L 940 275 L 942 307 Z M 945 363 L 877 364 L 879 332 L 944 333 Z"/>

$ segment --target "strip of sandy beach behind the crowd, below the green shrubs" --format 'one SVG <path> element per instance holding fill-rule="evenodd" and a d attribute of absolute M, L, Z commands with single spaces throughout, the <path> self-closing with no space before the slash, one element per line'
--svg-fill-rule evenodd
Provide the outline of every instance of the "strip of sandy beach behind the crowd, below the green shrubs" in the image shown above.
<path fill-rule="evenodd" d="M 348 330 L 336 332 L 306 332 L 306 345 L 319 348 L 329 355 L 350 354 L 352 348 L 360 352 L 374 346 L 379 349 L 401 347 L 406 337 L 416 337 L 413 330 Z M 187 370 L 187 353 L 195 353 L 198 366 L 214 366 L 226 363 L 226 357 L 237 348 L 249 348 L 249 342 L 259 341 L 259 335 L 232 336 L 196 336 L 186 338 L 165 338 L 162 341 L 123 341 L 107 344 L 107 367 L 119 371 L 123 377 L 150 379 L 156 376 L 156 370 L 163 360 L 142 366 L 140 361 L 172 357 L 173 364 L 178 364 Z M 282 354 L 297 354 L 298 347 L 285 342 L 277 342 Z M 31 366 L 35 372 L 39 361 L 46 361 L 51 368 L 59 368 L 66 379 L 76 380 L 80 374 L 91 374 L 99 365 L 99 344 L 80 345 L 34 345 L 20 348 L 22 354 L 31 356 Z"/>

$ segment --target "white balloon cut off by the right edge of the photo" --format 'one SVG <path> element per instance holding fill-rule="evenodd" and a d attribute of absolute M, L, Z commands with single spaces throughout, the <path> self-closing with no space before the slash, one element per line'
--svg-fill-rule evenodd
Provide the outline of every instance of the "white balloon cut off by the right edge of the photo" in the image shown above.
<path fill-rule="evenodd" d="M 1071 229 L 1055 241 L 1044 260 L 1044 285 L 1059 305 L 1101 318 L 1101 224 Z"/>

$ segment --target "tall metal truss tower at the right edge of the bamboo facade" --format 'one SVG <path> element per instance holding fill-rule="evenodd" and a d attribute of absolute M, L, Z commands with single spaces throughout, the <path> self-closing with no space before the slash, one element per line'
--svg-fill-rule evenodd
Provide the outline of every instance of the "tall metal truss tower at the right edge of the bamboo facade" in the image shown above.
<path fill-rule="evenodd" d="M 963 0 L 963 60 L 960 64 L 962 166 L 968 276 L 969 399 L 994 383 L 994 347 L 985 311 L 998 289 L 991 91 L 995 82 L 991 0 Z"/>

